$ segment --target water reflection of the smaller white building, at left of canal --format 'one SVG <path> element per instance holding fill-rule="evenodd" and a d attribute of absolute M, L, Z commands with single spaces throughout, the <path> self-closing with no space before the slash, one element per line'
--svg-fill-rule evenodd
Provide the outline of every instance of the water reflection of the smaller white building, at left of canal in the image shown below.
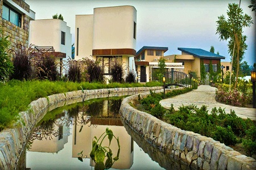
<path fill-rule="evenodd" d="M 64 148 L 64 144 L 68 142 L 70 131 L 65 119 L 58 118 L 49 127 L 34 130 L 31 137 L 34 141 L 32 141 L 29 151 L 55 153 Z"/>

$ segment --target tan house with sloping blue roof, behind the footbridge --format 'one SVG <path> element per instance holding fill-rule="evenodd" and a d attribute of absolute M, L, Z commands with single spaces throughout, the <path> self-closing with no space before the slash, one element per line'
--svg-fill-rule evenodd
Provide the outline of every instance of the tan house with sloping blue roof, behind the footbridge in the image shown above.
<path fill-rule="evenodd" d="M 179 62 L 184 65 L 184 73 L 189 74 L 191 71 L 195 72 L 197 78 L 200 78 L 201 63 L 204 64 L 205 72 L 209 73 L 209 65 L 212 63 L 213 71 L 217 72 L 218 65 L 221 65 L 221 59 L 225 59 L 224 56 L 214 54 L 199 48 L 177 48 L 181 51 L 181 54 L 175 54 L 170 56 L 164 56 L 165 59 L 172 60 L 175 63 Z"/>

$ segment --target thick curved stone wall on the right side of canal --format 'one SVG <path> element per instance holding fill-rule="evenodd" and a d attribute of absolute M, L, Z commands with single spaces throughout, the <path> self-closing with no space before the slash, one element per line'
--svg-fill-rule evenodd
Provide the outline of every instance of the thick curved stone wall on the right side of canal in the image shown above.
<path fill-rule="evenodd" d="M 146 97 L 148 94 L 140 94 L 140 97 Z M 181 130 L 151 114 L 138 111 L 130 105 L 134 100 L 138 100 L 138 95 L 123 99 L 119 110 L 122 119 L 167 157 L 179 159 L 196 169 L 256 169 L 255 159 L 242 155 L 212 138 Z"/>

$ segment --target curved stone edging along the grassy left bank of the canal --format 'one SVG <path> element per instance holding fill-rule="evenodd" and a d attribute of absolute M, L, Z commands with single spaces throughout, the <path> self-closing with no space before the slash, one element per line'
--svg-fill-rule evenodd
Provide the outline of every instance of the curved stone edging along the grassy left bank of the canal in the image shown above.
<path fill-rule="evenodd" d="M 47 111 L 63 105 L 71 104 L 71 100 L 82 101 L 82 97 L 93 99 L 101 94 L 114 94 L 119 92 L 160 90 L 163 87 L 130 87 L 130 88 L 105 88 L 98 90 L 84 90 L 55 94 L 38 100 L 28 105 L 27 111 L 19 113 L 19 121 L 15 122 L 12 129 L 4 129 L 0 132 L 0 169 L 16 169 L 22 151 L 26 149 L 26 143 L 32 128 Z M 112 95 L 114 96 L 114 95 Z M 56 105 L 56 106 L 55 106 Z"/>

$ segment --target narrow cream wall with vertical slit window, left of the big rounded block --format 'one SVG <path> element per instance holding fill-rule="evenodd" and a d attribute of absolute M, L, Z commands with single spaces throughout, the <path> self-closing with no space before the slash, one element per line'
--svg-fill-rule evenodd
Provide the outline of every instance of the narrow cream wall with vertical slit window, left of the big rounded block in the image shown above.
<path fill-rule="evenodd" d="M 77 56 L 77 28 L 79 28 L 79 53 Z M 76 15 L 75 59 L 79 60 L 92 55 L 93 15 Z"/>

